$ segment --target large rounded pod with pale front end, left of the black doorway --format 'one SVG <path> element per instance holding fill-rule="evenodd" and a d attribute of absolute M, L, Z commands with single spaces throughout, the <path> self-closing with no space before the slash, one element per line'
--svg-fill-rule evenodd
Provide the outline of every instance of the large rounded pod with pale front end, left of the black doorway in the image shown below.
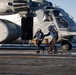
<path fill-rule="evenodd" d="M 20 37 L 20 27 L 10 21 L 0 20 L 0 42 L 14 41 Z"/>

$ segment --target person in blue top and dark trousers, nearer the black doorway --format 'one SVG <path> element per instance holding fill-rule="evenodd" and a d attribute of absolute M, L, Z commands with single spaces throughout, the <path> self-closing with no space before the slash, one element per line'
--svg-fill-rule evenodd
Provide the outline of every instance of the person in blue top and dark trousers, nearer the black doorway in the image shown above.
<path fill-rule="evenodd" d="M 44 33 L 41 31 L 40 28 L 37 29 L 37 32 L 35 33 L 34 38 L 37 39 L 37 51 L 36 51 L 36 53 L 40 53 L 40 49 L 42 49 L 44 52 L 44 47 L 41 46 L 41 43 L 44 39 Z"/>

